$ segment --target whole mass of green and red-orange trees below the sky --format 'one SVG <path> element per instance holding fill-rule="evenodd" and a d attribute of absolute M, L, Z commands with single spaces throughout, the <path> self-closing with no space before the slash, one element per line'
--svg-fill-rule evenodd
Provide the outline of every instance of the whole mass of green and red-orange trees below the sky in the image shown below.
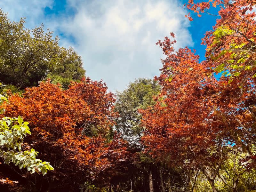
<path fill-rule="evenodd" d="M 255 5 L 189 0 L 191 25 L 220 10 L 205 60 L 170 33 L 160 76 L 116 93 L 50 29 L 0 10 L 0 191 L 256 191 Z"/>

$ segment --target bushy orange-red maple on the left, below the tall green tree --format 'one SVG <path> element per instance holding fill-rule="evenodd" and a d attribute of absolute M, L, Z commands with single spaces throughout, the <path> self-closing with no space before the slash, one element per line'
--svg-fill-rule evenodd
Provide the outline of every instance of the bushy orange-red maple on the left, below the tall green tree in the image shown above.
<path fill-rule="evenodd" d="M 112 153 L 115 159 L 121 158 L 118 154 L 125 146 L 109 150 L 105 138 L 116 117 L 114 101 L 105 84 L 89 78 L 72 83 L 68 90 L 42 82 L 39 87 L 26 88 L 22 97 L 9 96 L 3 104 L 4 115 L 20 114 L 30 122 L 28 144 L 55 169 L 47 177 L 29 176 L 27 182 L 22 181 L 25 188 L 77 191 L 114 164 L 109 157 Z"/>

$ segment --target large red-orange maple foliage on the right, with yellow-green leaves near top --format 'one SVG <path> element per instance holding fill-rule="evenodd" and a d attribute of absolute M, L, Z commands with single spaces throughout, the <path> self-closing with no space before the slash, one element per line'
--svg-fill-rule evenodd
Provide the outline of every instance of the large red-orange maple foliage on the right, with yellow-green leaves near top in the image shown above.
<path fill-rule="evenodd" d="M 217 191 L 215 179 L 221 179 L 230 150 L 236 154 L 243 149 L 247 165 L 253 164 L 256 120 L 255 2 L 213 1 L 216 4 L 221 6 L 221 19 L 204 38 L 205 61 L 200 63 L 188 48 L 174 52 L 175 40 L 168 37 L 157 43 L 166 55 L 157 77 L 163 91 L 143 116 L 146 150 L 170 159 L 170 164 L 196 166 L 213 191 Z M 209 6 L 208 2 L 189 1 L 187 8 L 201 13 Z M 214 73 L 220 72 L 224 73 L 216 79 Z M 237 190 L 241 173 L 234 169 L 236 178 L 230 190 Z"/>

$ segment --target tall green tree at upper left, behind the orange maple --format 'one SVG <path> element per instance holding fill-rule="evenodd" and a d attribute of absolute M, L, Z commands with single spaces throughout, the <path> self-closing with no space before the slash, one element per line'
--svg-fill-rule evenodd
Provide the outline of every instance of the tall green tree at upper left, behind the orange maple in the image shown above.
<path fill-rule="evenodd" d="M 25 28 L 8 19 L 0 9 L 0 81 L 24 88 L 35 86 L 46 76 L 79 80 L 84 76 L 82 60 L 72 49 L 59 46 L 59 38 L 44 26 Z M 59 78 L 60 79 L 60 78 Z M 60 83 L 64 80 L 60 79 Z M 67 80 L 66 80 L 67 81 Z M 69 83 L 69 81 L 68 81 Z M 68 84 L 64 82 L 64 86 Z"/>

